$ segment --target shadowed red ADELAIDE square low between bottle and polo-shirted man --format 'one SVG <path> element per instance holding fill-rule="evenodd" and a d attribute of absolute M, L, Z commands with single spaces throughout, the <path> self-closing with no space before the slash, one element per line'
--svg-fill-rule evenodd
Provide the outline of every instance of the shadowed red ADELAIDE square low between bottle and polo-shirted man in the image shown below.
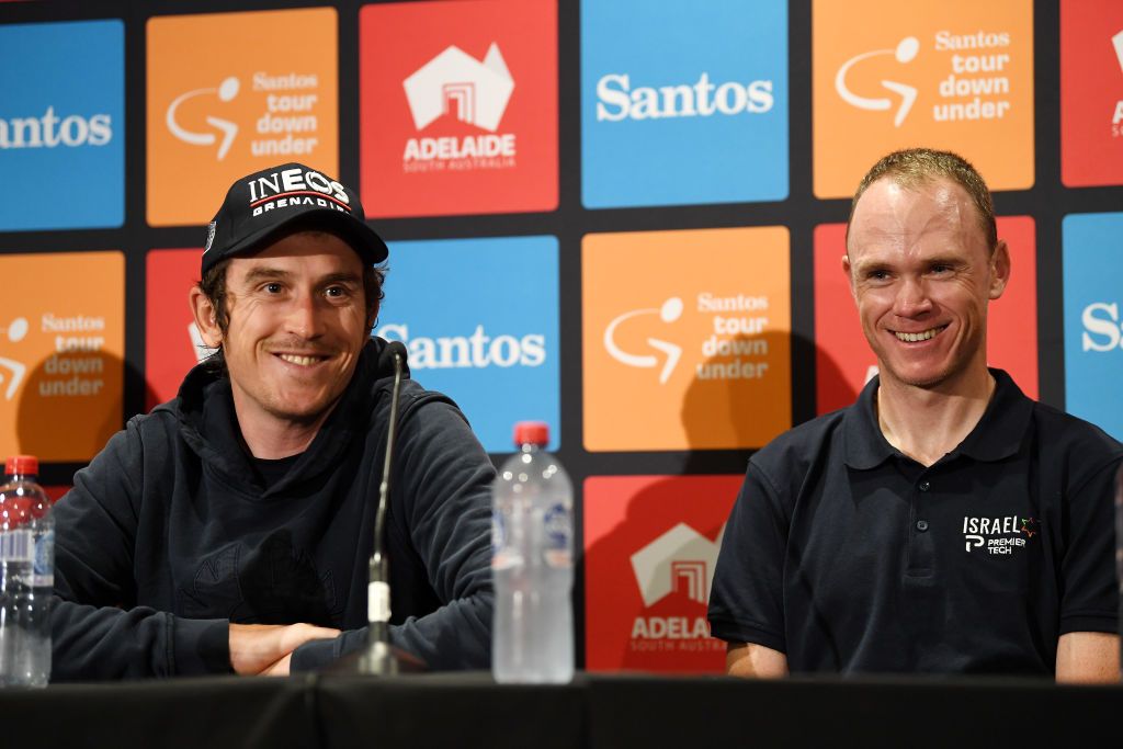
<path fill-rule="evenodd" d="M 722 673 L 706 605 L 741 476 L 585 481 L 585 667 Z"/>

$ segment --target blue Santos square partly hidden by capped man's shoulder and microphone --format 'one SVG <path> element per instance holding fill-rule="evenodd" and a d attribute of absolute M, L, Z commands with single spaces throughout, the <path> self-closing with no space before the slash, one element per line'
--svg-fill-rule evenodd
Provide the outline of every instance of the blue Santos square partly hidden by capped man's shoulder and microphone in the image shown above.
<path fill-rule="evenodd" d="M 393 243 L 374 332 L 449 395 L 490 453 L 533 419 L 559 441 L 558 250 L 554 237 Z"/>

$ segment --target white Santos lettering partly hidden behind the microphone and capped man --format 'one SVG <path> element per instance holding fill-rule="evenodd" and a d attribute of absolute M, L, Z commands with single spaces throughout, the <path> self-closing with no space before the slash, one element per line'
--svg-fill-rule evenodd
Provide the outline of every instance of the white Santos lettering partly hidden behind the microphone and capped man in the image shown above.
<path fill-rule="evenodd" d="M 387 323 L 375 335 L 405 344 L 410 366 L 416 369 L 538 367 L 546 362 L 546 336 L 541 334 L 491 337 L 477 325 L 471 336 L 411 338 L 409 326 Z"/>

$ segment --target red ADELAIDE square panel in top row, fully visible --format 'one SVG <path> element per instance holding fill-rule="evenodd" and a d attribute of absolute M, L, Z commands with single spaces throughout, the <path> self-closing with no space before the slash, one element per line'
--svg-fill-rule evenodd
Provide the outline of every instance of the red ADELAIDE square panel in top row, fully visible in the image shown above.
<path fill-rule="evenodd" d="M 557 76 L 554 0 L 364 7 L 367 216 L 557 208 Z"/>

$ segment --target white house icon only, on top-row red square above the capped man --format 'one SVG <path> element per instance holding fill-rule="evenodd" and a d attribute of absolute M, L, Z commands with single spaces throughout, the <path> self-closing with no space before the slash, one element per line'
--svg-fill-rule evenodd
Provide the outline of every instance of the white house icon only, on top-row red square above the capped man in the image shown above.
<path fill-rule="evenodd" d="M 499 45 L 492 43 L 483 62 L 456 46 L 422 65 L 402 84 L 413 125 L 423 130 L 445 115 L 494 133 L 514 91 L 514 81 Z"/>

